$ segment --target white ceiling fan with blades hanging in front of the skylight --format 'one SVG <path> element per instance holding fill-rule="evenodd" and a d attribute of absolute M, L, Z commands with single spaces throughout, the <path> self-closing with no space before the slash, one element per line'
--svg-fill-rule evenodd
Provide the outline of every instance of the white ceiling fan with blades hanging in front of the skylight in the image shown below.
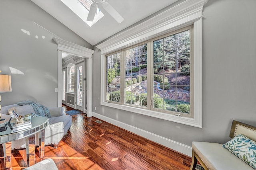
<path fill-rule="evenodd" d="M 97 8 L 102 11 L 102 8 L 106 10 L 118 23 L 121 23 L 124 18 L 118 14 L 118 12 L 110 5 L 106 0 L 92 0 L 93 4 L 90 7 L 89 14 L 87 17 L 87 21 L 93 21 L 97 12 Z M 98 6 L 98 4 L 102 4 Z"/>

